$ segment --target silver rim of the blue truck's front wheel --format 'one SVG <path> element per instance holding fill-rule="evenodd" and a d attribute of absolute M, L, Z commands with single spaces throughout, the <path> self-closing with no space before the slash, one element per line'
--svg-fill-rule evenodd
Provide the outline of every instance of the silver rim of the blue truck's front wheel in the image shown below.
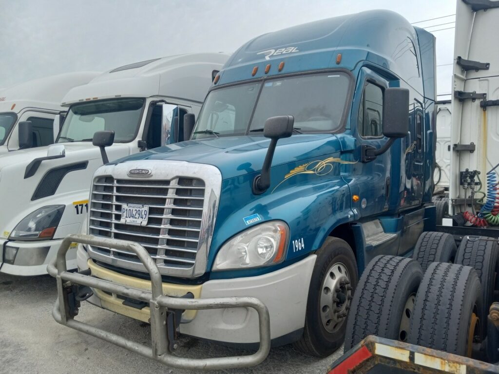
<path fill-rule="evenodd" d="M 320 317 L 327 332 L 334 333 L 341 328 L 351 300 L 350 273 L 343 263 L 336 262 L 324 276 L 320 296 Z"/>

